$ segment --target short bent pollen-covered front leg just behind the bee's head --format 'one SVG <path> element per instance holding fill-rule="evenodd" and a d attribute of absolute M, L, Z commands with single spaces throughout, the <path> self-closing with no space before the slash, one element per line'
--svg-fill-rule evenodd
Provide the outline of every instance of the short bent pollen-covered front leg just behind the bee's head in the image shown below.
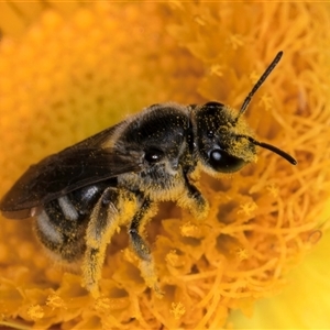
<path fill-rule="evenodd" d="M 177 204 L 188 209 L 194 218 L 204 219 L 209 211 L 209 204 L 201 193 L 189 182 L 185 174 L 185 194 L 178 199 Z"/>

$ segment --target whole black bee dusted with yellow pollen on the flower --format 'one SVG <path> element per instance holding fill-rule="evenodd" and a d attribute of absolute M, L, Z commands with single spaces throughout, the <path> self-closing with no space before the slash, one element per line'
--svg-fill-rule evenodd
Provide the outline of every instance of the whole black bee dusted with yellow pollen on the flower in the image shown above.
<path fill-rule="evenodd" d="M 242 119 L 282 55 L 273 59 L 240 111 L 216 101 L 153 105 L 30 166 L 2 198 L 3 216 L 34 217 L 42 245 L 61 261 L 80 263 L 82 284 L 96 296 L 107 244 L 125 224 L 147 278 L 153 258 L 143 229 L 157 202 L 175 201 L 196 218 L 207 215 L 208 202 L 194 185 L 195 172 L 215 177 L 237 172 L 256 161 L 256 146 L 297 164 L 284 151 L 255 140 Z"/>

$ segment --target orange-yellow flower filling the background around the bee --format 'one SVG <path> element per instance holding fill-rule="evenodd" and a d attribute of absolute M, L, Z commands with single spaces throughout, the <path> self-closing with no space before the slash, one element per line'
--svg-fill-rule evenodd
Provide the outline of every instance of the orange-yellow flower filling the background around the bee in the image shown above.
<path fill-rule="evenodd" d="M 299 263 L 318 244 L 326 263 L 329 250 L 329 6 L 43 3 L 0 4 L 1 196 L 31 164 L 148 105 L 219 100 L 239 109 L 280 50 L 244 118 L 298 165 L 260 150 L 238 174 L 202 175 L 205 221 L 162 205 L 147 226 L 162 299 L 141 277 L 123 228 L 95 299 L 79 274 L 41 251 L 32 220 L 1 218 L 0 324 L 240 328 L 242 312 L 253 315 L 251 327 L 326 324 L 327 268 L 317 253 Z M 282 290 L 288 307 L 273 298 Z M 323 314 L 304 305 L 310 297 Z M 320 320 L 306 320 L 306 309 Z"/>

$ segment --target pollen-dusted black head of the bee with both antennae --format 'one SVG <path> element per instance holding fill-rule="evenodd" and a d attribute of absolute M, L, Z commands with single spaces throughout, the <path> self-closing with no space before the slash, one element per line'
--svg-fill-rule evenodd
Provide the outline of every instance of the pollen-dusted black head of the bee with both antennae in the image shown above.
<path fill-rule="evenodd" d="M 255 84 L 239 113 L 219 102 L 194 107 L 195 143 L 199 158 L 207 172 L 216 174 L 239 170 L 256 160 L 256 145 L 278 154 L 294 165 L 297 164 L 296 160 L 276 146 L 256 141 L 245 121 L 241 119 L 253 95 L 279 62 L 282 54 L 279 52 L 276 55 Z"/>

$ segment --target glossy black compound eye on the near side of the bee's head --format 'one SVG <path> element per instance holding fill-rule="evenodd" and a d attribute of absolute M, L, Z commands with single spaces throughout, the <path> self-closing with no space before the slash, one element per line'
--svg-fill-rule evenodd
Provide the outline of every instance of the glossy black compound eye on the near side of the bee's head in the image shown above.
<path fill-rule="evenodd" d="M 245 164 L 243 160 L 231 156 L 220 148 L 211 151 L 209 162 L 213 169 L 224 173 L 235 172 Z"/>

